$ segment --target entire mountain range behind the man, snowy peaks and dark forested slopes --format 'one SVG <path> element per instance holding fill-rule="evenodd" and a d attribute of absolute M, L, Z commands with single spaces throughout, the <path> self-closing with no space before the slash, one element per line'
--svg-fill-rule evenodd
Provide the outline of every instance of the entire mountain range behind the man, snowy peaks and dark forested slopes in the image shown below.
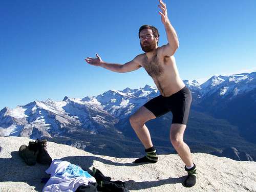
<path fill-rule="evenodd" d="M 256 160 L 256 72 L 184 83 L 193 95 L 184 137 L 191 151 Z M 146 85 L 5 107 L 0 111 L 0 136 L 47 138 L 95 154 L 138 157 L 143 146 L 129 117 L 159 94 L 156 87 Z M 160 154 L 176 153 L 168 136 L 171 122 L 172 113 L 167 113 L 146 123 Z"/>

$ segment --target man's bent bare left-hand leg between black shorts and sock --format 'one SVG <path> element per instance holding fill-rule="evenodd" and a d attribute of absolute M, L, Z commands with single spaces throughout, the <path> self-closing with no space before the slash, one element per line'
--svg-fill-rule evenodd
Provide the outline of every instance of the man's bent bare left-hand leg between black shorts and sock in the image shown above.
<path fill-rule="evenodd" d="M 155 118 L 156 116 L 144 106 L 130 117 L 130 123 L 145 149 L 152 147 L 153 143 L 150 132 L 144 123 Z"/>

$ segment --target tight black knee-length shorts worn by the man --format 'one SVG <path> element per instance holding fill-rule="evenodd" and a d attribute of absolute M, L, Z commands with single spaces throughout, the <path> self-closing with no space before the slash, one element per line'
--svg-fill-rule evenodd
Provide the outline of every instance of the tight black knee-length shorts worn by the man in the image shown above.
<path fill-rule="evenodd" d="M 187 87 L 184 87 L 169 97 L 159 95 L 145 103 L 144 106 L 156 117 L 171 111 L 173 113 L 172 123 L 187 124 L 191 101 L 191 93 Z"/>

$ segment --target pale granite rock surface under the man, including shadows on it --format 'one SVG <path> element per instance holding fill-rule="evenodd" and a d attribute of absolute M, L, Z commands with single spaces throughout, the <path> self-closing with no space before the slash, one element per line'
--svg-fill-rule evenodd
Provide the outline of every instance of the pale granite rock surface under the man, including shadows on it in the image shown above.
<path fill-rule="evenodd" d="M 28 166 L 18 156 L 18 148 L 31 139 L 0 137 L 0 191 L 41 191 L 47 166 Z M 256 162 L 240 162 L 225 157 L 195 153 L 197 184 L 185 188 L 186 172 L 178 155 L 159 155 L 156 164 L 135 165 L 135 159 L 94 155 L 72 146 L 47 143 L 53 159 L 69 161 L 84 170 L 96 167 L 112 180 L 126 181 L 130 191 L 256 191 Z"/>

